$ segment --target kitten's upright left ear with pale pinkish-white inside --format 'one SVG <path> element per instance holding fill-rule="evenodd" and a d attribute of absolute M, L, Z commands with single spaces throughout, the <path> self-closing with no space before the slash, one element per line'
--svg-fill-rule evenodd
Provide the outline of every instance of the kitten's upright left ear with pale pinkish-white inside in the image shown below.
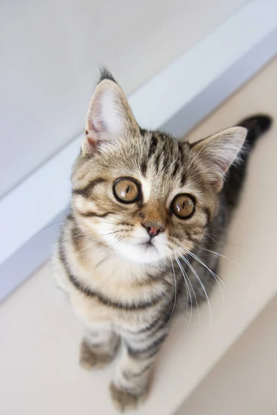
<path fill-rule="evenodd" d="M 93 156 L 115 144 L 127 132 L 139 133 L 139 125 L 123 90 L 110 75 L 109 79 L 100 80 L 89 102 L 82 154 Z"/>

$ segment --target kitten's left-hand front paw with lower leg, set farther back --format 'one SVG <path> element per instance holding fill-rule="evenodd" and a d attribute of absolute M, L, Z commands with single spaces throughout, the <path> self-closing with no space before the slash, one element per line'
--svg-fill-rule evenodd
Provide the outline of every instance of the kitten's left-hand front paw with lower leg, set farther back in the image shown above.
<path fill-rule="evenodd" d="M 102 369 L 113 360 L 119 337 L 111 330 L 89 330 L 80 347 L 80 366 L 90 370 Z"/>

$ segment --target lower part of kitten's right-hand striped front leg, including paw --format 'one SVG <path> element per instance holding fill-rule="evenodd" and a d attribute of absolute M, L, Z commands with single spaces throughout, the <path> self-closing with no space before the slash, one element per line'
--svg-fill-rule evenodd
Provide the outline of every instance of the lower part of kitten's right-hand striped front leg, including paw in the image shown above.
<path fill-rule="evenodd" d="M 113 382 L 110 385 L 111 400 L 121 412 L 134 409 L 143 401 L 150 388 L 152 366 L 156 355 L 168 334 L 163 328 L 154 335 L 137 335 L 125 338 Z"/>

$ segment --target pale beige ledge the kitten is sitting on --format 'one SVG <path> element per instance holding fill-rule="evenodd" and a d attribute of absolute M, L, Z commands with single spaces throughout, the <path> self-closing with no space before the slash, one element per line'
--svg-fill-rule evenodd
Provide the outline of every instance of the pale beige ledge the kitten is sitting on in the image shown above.
<path fill-rule="evenodd" d="M 193 136 L 206 136 L 257 111 L 277 118 L 277 59 L 209 117 Z M 256 146 L 242 203 L 231 225 L 220 277 L 227 288 L 177 321 L 166 342 L 152 394 L 137 414 L 172 414 L 276 293 L 277 124 Z M 250 274 L 249 274 L 250 273 Z M 81 327 L 55 293 L 47 267 L 0 307 L 0 414 L 116 414 L 107 394 L 112 368 L 78 368 Z M 239 414 L 240 415 L 240 414 Z M 248 414 L 247 414 L 248 415 Z"/>

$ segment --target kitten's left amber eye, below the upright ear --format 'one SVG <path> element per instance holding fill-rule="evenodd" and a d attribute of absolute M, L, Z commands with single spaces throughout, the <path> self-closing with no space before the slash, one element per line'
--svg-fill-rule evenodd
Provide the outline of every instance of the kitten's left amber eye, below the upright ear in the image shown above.
<path fill-rule="evenodd" d="M 141 194 L 139 183 L 129 177 L 116 179 L 113 190 L 114 197 L 121 203 L 134 203 Z"/>

